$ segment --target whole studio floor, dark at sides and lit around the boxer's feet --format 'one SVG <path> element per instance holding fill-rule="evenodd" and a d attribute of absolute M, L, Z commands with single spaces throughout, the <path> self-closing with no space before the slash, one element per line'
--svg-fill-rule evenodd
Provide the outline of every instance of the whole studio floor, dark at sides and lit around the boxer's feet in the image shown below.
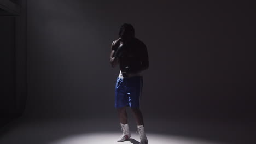
<path fill-rule="evenodd" d="M 189 119 L 146 117 L 146 134 L 151 144 L 255 144 L 255 125 Z M 131 139 L 139 144 L 136 124 L 130 121 Z M 20 117 L 1 131 L 1 144 L 113 144 L 121 135 L 117 117 L 27 119 Z"/>

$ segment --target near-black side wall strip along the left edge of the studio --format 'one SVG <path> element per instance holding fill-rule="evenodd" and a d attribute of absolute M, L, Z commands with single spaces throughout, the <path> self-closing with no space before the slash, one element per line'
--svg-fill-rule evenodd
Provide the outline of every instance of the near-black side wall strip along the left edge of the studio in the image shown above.
<path fill-rule="evenodd" d="M 26 36 L 26 1 L 1 1 L 0 128 L 20 117 L 26 107 Z"/>

